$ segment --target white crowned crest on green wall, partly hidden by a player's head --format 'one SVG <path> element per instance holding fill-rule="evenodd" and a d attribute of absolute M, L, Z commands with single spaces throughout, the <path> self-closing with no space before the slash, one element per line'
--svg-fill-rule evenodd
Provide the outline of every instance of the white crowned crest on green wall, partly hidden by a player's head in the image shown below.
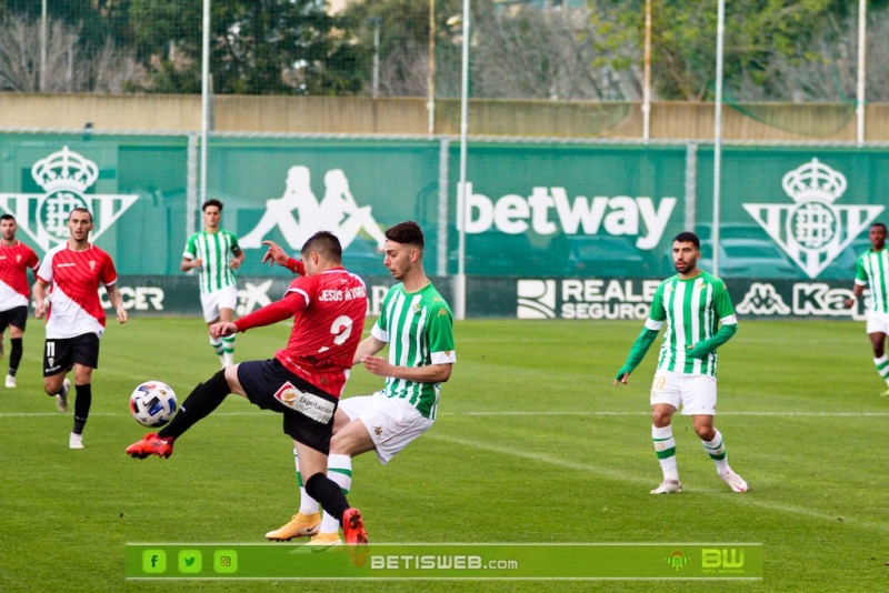
<path fill-rule="evenodd" d="M 31 167 L 31 177 L 46 193 L 0 193 L 0 210 L 16 217 L 40 249 L 48 251 L 68 240 L 68 215 L 74 208 L 92 213 L 96 241 L 139 199 L 138 194 L 87 194 L 99 179 L 96 162 L 67 145 Z"/>

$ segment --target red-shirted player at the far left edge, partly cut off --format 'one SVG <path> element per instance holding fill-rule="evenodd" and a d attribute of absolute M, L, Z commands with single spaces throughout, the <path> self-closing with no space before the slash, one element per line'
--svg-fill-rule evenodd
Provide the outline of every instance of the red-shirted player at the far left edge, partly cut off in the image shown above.
<path fill-rule="evenodd" d="M 28 270 L 37 274 L 40 260 L 34 250 L 16 239 L 19 225 L 16 217 L 0 217 L 0 356 L 2 356 L 3 332 L 9 326 L 9 373 L 6 386 L 16 386 L 16 373 L 22 355 L 22 335 L 28 320 L 31 288 Z"/>

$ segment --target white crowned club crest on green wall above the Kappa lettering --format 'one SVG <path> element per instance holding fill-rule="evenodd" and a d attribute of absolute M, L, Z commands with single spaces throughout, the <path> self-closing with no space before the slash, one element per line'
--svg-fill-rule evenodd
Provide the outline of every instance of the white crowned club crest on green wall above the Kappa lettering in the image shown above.
<path fill-rule="evenodd" d="M 846 191 L 846 175 L 818 159 L 789 171 L 781 185 L 795 203 L 743 204 L 743 208 L 812 279 L 885 208 L 835 204 Z"/>

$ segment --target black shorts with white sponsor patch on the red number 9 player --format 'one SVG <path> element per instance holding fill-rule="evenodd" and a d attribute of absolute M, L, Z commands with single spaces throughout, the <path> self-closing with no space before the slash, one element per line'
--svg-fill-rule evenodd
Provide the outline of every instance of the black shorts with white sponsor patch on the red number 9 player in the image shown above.
<path fill-rule="evenodd" d="M 283 414 L 284 434 L 324 455 L 330 453 L 337 398 L 291 373 L 277 359 L 240 363 L 238 381 L 251 403 Z"/>

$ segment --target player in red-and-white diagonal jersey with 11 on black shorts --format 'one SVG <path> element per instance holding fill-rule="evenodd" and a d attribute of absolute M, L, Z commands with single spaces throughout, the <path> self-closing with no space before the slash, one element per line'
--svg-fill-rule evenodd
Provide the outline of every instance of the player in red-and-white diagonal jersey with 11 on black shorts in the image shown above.
<path fill-rule="evenodd" d="M 74 208 L 68 215 L 67 242 L 51 249 L 37 271 L 33 298 L 37 319 L 47 315 L 43 348 L 43 389 L 56 396 L 60 412 L 68 411 L 74 370 L 74 428 L 68 440 L 71 449 L 83 449 L 83 426 L 92 405 L 92 371 L 99 368 L 99 338 L 104 331 L 104 310 L 99 287 L 104 285 L 108 301 L 120 323 L 127 322 L 123 296 L 118 289 L 118 273 L 111 257 L 90 244 L 92 214 Z M 47 296 L 49 289 L 49 298 Z"/>

